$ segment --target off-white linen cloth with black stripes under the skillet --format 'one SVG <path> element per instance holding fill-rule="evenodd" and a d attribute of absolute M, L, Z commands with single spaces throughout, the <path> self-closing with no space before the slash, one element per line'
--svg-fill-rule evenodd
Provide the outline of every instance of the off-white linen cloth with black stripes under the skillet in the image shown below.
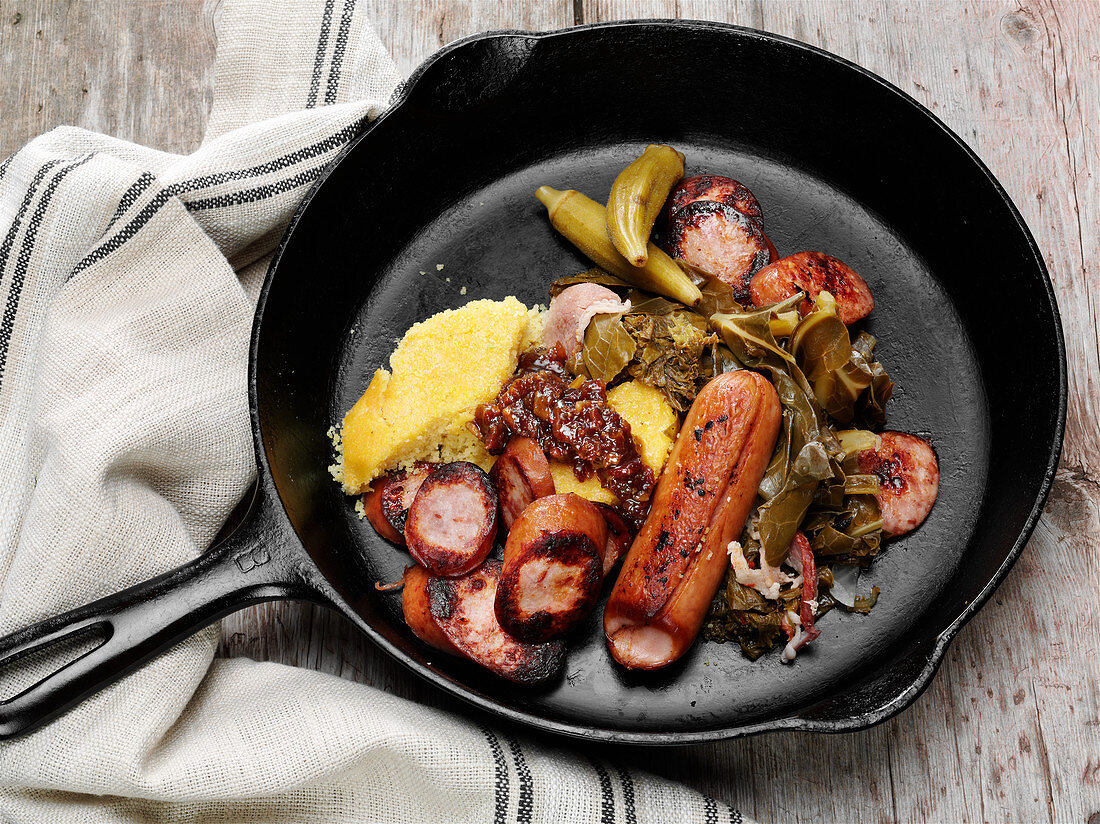
<path fill-rule="evenodd" d="M 256 292 L 387 105 L 355 0 L 220 11 L 188 156 L 59 128 L 0 165 L 0 634 L 206 548 L 255 472 Z M 0 744 L 0 822 L 740 822 L 713 799 L 319 672 L 217 626 Z M 35 680 L 0 672 L 0 697 Z"/>

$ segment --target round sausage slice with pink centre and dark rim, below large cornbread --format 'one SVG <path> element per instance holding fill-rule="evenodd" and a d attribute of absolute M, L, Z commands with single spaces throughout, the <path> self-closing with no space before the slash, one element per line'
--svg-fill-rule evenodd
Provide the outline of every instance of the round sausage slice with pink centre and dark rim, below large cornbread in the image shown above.
<path fill-rule="evenodd" d="M 496 490 L 480 466 L 444 463 L 424 479 L 405 519 L 405 543 L 435 575 L 461 575 L 485 560 L 496 537 Z"/>

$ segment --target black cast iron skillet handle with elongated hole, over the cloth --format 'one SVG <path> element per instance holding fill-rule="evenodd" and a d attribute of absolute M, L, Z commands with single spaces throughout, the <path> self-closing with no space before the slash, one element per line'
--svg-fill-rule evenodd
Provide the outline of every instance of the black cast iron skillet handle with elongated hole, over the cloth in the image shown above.
<path fill-rule="evenodd" d="M 223 615 L 262 601 L 323 601 L 309 584 L 308 565 L 261 484 L 244 524 L 201 557 L 0 638 L 0 695 L 10 694 L 3 670 L 19 659 L 77 636 L 100 639 L 0 702 L 0 740 L 45 724 Z"/>

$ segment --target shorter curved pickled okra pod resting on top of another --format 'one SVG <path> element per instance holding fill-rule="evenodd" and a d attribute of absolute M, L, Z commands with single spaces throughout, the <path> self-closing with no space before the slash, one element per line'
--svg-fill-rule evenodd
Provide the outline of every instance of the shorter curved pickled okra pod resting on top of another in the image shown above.
<path fill-rule="evenodd" d="M 634 266 L 649 257 L 649 233 L 672 187 L 684 176 L 684 156 L 672 146 L 650 143 L 619 173 L 607 196 L 607 234 Z"/>

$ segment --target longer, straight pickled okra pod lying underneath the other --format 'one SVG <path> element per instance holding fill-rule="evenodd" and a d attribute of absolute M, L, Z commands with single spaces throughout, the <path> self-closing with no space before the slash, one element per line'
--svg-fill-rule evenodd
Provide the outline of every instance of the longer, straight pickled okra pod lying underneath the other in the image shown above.
<path fill-rule="evenodd" d="M 550 223 L 597 266 L 635 286 L 694 306 L 703 293 L 664 252 L 649 244 L 645 266 L 632 266 L 607 237 L 607 210 L 576 189 L 540 186 L 536 197 L 547 207 Z"/>

